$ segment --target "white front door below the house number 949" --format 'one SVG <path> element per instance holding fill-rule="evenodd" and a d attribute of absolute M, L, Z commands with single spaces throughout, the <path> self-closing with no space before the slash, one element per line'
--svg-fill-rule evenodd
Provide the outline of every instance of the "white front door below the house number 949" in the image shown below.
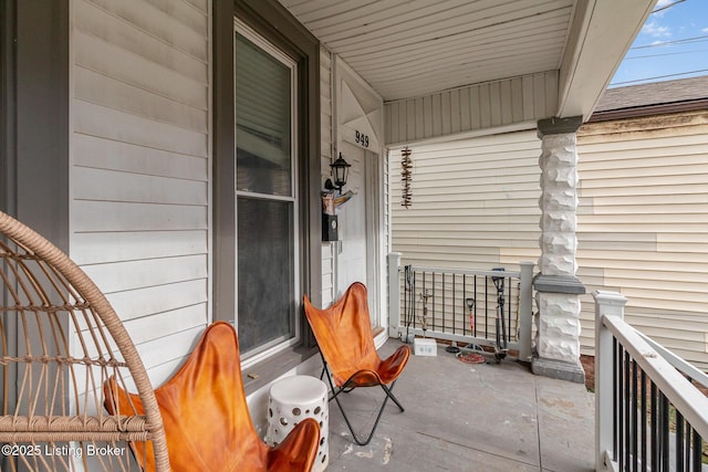
<path fill-rule="evenodd" d="M 344 159 L 352 165 L 344 192 L 356 193 L 337 210 L 340 242 L 336 251 L 336 296 L 341 296 L 354 282 L 362 282 L 368 290 L 368 310 L 372 325 L 378 325 L 376 311 L 377 291 L 372 279 L 374 266 L 374 243 L 372 234 L 373 216 L 369 204 L 373 202 L 371 189 L 367 189 L 371 161 L 375 155 L 365 149 L 342 143 Z"/>

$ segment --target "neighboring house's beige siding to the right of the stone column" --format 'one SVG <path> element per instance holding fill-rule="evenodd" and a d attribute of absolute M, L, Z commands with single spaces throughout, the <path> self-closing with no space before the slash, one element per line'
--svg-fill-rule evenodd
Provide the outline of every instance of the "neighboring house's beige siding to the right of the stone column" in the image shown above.
<path fill-rule="evenodd" d="M 579 153 L 579 276 L 625 294 L 629 323 L 708 368 L 708 113 L 587 124 Z"/>

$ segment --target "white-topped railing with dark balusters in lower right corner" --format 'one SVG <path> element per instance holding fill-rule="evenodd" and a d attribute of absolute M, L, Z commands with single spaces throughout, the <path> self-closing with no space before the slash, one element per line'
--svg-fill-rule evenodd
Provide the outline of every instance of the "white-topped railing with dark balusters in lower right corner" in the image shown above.
<path fill-rule="evenodd" d="M 624 322 L 623 295 L 595 298 L 595 469 L 706 471 L 708 376 Z"/>

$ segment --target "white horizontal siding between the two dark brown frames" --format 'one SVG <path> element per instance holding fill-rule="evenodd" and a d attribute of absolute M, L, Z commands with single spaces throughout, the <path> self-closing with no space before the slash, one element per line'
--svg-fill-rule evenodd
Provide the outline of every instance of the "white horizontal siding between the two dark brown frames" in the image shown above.
<path fill-rule="evenodd" d="M 70 251 L 159 384 L 210 316 L 210 2 L 71 7 Z"/>

